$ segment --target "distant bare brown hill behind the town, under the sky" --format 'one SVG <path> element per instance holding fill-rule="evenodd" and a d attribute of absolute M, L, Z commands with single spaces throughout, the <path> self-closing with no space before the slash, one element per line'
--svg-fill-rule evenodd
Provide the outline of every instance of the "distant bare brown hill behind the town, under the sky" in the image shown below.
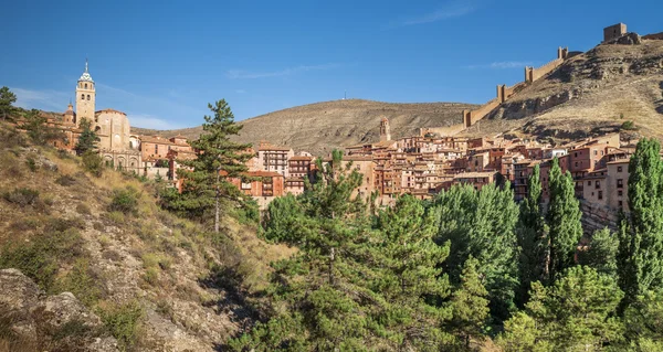
<path fill-rule="evenodd" d="M 461 111 L 474 105 L 459 103 L 396 104 L 348 99 L 316 103 L 270 113 L 241 121 L 239 140 L 266 140 L 295 150 L 324 154 L 333 148 L 379 140 L 380 117 L 389 118 L 391 135 L 400 138 L 417 134 L 420 127 L 444 127 L 462 121 Z M 200 127 L 156 131 L 131 127 L 135 134 L 178 134 L 197 138 Z"/>

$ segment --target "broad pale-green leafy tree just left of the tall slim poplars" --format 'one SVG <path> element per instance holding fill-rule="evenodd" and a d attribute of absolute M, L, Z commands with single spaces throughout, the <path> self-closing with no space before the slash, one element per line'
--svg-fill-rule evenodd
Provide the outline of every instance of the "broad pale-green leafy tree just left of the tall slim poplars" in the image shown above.
<path fill-rule="evenodd" d="M 470 255 L 480 263 L 491 311 L 506 319 L 515 309 L 514 292 L 518 287 L 518 246 L 515 225 L 518 205 L 507 182 L 503 190 L 494 184 L 475 191 L 472 186 L 453 186 L 435 200 L 440 214 L 438 243 L 451 243 L 443 268 L 453 284 Z"/>

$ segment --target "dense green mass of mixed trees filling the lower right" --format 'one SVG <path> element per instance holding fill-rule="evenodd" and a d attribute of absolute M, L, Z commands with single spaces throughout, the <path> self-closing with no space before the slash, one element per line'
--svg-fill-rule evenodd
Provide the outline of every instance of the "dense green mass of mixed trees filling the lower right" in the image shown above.
<path fill-rule="evenodd" d="M 375 209 L 343 154 L 317 182 L 276 199 L 264 238 L 298 248 L 274 263 L 266 318 L 235 351 L 663 350 L 663 163 L 643 139 L 621 230 L 579 246 L 579 202 L 557 160 L 541 202 L 538 167 L 514 202 L 509 184 L 454 186 Z"/>

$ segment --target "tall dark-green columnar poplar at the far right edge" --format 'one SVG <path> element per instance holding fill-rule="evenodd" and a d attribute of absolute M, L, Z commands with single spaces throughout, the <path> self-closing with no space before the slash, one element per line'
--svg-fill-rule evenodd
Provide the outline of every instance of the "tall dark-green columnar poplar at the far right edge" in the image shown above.
<path fill-rule="evenodd" d="M 661 145 L 643 138 L 629 163 L 629 210 L 619 238 L 619 282 L 625 303 L 663 286 Z"/>

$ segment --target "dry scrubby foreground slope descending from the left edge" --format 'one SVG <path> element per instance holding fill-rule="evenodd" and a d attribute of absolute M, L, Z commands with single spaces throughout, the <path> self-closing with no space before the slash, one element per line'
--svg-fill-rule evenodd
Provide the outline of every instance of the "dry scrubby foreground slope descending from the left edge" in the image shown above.
<path fill-rule="evenodd" d="M 159 184 L 94 177 L 2 122 L 0 162 L 0 351 L 214 351 L 292 253 L 236 216 L 214 235 L 162 211 Z"/>

